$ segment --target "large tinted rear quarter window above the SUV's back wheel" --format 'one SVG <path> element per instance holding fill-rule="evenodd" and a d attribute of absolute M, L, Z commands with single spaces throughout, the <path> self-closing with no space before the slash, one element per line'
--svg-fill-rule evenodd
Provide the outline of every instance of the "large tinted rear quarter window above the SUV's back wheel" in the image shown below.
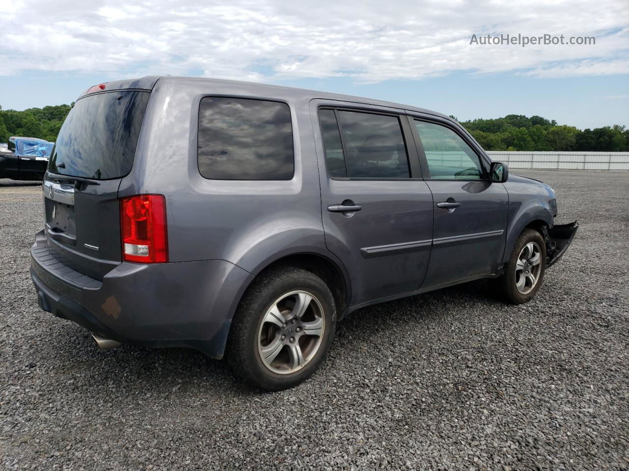
<path fill-rule="evenodd" d="M 291 110 L 266 100 L 201 99 L 198 162 L 214 180 L 291 180 Z"/>

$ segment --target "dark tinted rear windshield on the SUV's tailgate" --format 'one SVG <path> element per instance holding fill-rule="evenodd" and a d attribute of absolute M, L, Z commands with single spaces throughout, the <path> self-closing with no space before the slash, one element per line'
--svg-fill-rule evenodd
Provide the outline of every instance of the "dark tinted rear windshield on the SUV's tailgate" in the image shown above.
<path fill-rule="evenodd" d="M 77 100 L 59 131 L 48 170 L 95 180 L 131 171 L 150 92 L 107 92 Z"/>

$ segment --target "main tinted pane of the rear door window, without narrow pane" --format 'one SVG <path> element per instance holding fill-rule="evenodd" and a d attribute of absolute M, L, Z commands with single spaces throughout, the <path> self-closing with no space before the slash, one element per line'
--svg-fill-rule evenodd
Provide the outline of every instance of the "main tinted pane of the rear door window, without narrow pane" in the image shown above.
<path fill-rule="evenodd" d="M 350 178 L 409 178 L 397 116 L 337 111 Z"/>

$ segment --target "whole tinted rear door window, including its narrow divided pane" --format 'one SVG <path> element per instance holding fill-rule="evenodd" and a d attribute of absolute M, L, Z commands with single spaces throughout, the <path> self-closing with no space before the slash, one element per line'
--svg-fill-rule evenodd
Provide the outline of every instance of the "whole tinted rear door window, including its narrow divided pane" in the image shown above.
<path fill-rule="evenodd" d="M 399 117 L 322 109 L 320 120 L 330 176 L 410 177 Z"/>

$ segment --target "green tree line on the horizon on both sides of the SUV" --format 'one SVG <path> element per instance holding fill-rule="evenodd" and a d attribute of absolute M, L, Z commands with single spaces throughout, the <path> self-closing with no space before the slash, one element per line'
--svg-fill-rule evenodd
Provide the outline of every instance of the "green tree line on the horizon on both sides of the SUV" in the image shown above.
<path fill-rule="evenodd" d="M 8 142 L 10 136 L 55 141 L 73 105 L 24 111 L 3 110 L 0 106 L 0 143 Z M 460 124 L 487 151 L 629 151 L 629 129 L 625 126 L 577 129 L 558 125 L 554 119 L 521 114 L 497 119 L 472 119 Z"/>

